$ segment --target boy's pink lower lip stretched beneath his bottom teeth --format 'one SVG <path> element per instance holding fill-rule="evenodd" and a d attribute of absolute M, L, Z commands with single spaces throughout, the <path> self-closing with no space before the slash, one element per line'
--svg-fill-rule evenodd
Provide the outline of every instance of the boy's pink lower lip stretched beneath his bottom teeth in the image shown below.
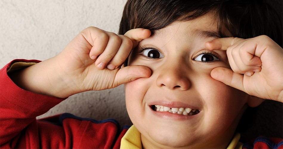
<path fill-rule="evenodd" d="M 170 120 L 188 120 L 188 119 L 195 119 L 200 116 L 201 112 L 195 115 L 180 115 L 180 114 L 173 114 L 170 112 L 159 112 L 154 111 L 152 108 L 150 108 L 151 112 L 156 115 L 157 117 L 161 117 L 162 119 L 170 119 Z"/>

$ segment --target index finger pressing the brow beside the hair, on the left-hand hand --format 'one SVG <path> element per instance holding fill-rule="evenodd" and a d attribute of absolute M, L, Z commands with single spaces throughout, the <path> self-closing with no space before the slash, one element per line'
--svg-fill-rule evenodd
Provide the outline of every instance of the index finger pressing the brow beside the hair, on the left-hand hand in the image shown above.
<path fill-rule="evenodd" d="M 133 48 L 135 48 L 143 39 L 149 38 L 150 35 L 150 30 L 142 28 L 132 29 L 125 33 L 125 36 L 133 42 Z"/>

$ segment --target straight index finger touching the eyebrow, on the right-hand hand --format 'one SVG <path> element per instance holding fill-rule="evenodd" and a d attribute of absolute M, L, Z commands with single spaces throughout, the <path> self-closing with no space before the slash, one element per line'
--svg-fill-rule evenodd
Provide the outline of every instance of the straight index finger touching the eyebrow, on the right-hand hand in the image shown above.
<path fill-rule="evenodd" d="M 235 37 L 217 38 L 212 41 L 207 41 L 205 47 L 209 50 L 227 50 L 228 47 L 241 40 L 243 39 Z"/>

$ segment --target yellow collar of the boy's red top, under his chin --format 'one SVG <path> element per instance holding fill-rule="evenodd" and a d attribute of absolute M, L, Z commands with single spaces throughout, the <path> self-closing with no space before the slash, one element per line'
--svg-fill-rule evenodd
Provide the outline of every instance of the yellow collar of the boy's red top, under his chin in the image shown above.
<path fill-rule="evenodd" d="M 242 148 L 243 143 L 239 142 L 240 133 L 235 133 L 231 143 L 228 146 L 228 149 L 238 149 Z M 132 125 L 126 134 L 121 139 L 120 149 L 129 148 L 129 149 L 141 149 L 143 147 L 140 139 L 140 132 L 137 130 L 134 125 Z"/>

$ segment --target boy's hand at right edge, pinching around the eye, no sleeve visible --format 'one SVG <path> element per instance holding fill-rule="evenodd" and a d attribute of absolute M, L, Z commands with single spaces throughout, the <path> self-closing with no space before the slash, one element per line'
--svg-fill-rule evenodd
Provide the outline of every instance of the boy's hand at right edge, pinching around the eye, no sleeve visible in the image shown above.
<path fill-rule="evenodd" d="M 218 38 L 205 46 L 227 50 L 233 70 L 217 67 L 212 78 L 259 98 L 283 101 L 283 49 L 272 39 Z"/>

